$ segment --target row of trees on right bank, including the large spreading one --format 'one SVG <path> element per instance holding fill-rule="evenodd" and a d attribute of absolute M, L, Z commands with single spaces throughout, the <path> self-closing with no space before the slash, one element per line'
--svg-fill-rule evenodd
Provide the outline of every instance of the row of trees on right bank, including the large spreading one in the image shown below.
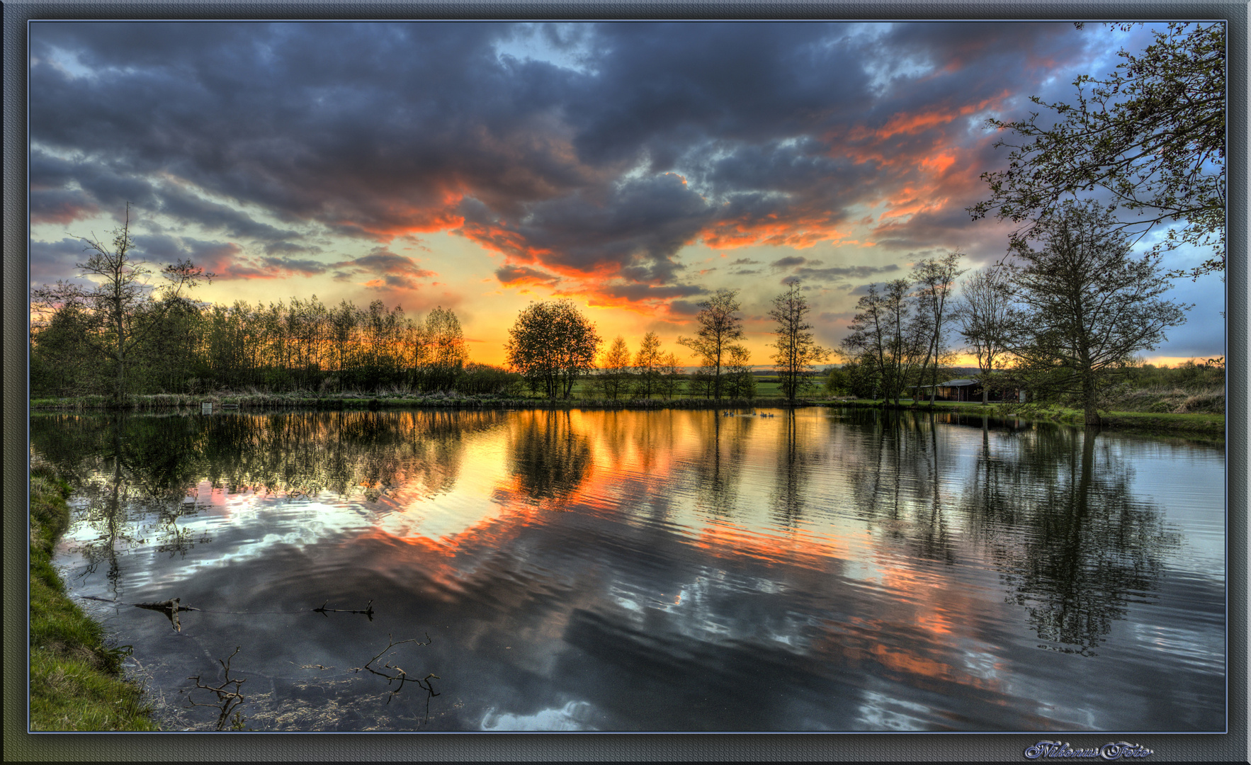
<path fill-rule="evenodd" d="M 844 375 L 883 400 L 909 389 L 932 401 L 955 329 L 992 386 L 1076 404 L 1098 424 L 1101 394 L 1153 350 L 1188 308 L 1165 300 L 1160 252 L 1133 256 L 1108 208 L 1066 202 L 1012 242 L 1003 261 L 972 274 L 953 299 L 961 255 L 918 262 L 911 279 L 871 286 L 843 340 Z"/>

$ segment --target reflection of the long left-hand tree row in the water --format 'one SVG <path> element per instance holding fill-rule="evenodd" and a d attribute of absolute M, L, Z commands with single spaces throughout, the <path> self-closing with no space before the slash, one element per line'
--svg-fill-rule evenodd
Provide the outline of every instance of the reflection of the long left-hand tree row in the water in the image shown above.
<path fill-rule="evenodd" d="M 211 541 L 179 521 L 199 515 L 199 484 L 226 492 L 306 496 L 359 492 L 377 501 L 407 484 L 454 489 L 464 439 L 503 412 L 276 412 L 213 416 L 36 416 L 31 450 L 76 486 L 76 520 L 98 532 L 80 542 L 84 575 L 136 545 L 185 555 Z M 114 586 L 114 592 L 116 588 Z"/>

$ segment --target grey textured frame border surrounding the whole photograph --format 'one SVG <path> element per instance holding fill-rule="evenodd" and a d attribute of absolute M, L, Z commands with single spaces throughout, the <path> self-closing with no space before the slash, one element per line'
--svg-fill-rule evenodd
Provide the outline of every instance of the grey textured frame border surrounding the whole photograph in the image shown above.
<path fill-rule="evenodd" d="M 1227 19 L 1228 732 L 1065 735 L 1130 740 L 1151 761 L 1247 761 L 1246 2 L 8 2 L 4 8 L 5 760 L 1022 760 L 1020 734 L 39 734 L 26 732 L 26 21 L 33 19 Z M 1168 692 L 1168 689 L 1160 689 Z M 749 704 L 749 700 L 743 701 Z M 1052 736 L 1055 738 L 1055 736 Z"/>

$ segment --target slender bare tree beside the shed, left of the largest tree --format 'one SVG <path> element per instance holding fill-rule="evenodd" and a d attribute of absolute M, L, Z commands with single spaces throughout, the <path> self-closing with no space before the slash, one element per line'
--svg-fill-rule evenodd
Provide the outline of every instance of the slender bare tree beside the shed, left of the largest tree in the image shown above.
<path fill-rule="evenodd" d="M 982 404 L 990 401 L 996 364 L 1007 358 L 1008 334 L 1018 324 L 1008 275 L 1008 270 L 993 266 L 977 271 L 965 280 L 956 305 L 960 335 L 977 358 Z"/>

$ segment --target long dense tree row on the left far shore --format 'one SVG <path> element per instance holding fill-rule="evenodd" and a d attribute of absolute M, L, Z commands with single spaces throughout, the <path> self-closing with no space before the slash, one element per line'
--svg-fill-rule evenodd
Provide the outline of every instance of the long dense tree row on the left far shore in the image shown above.
<path fill-rule="evenodd" d="M 418 390 L 494 392 L 515 375 L 468 361 L 457 315 L 443 308 L 423 321 L 317 296 L 270 305 L 209 305 L 189 291 L 213 279 L 190 262 L 151 271 L 133 258 L 125 224 L 111 246 L 83 238 L 79 264 L 91 284 L 58 282 L 33 291 L 31 392 L 195 392 L 200 388 L 269 390 Z"/>

